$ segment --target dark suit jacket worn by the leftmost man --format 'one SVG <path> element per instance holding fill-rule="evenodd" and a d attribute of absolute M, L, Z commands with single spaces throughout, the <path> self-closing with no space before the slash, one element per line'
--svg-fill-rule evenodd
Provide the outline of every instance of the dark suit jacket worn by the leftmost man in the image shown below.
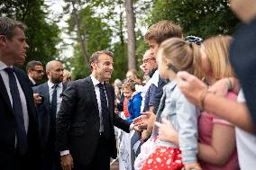
<path fill-rule="evenodd" d="M 41 148 L 39 129 L 30 79 L 23 70 L 17 67 L 14 67 L 14 73 L 22 86 L 29 117 L 29 128 L 27 132 L 28 152 L 24 156 L 25 160 L 23 164 L 26 164 L 28 168 L 40 169 Z M 7 94 L 3 78 L 0 75 L 0 169 L 14 169 L 16 126 L 13 107 Z"/>

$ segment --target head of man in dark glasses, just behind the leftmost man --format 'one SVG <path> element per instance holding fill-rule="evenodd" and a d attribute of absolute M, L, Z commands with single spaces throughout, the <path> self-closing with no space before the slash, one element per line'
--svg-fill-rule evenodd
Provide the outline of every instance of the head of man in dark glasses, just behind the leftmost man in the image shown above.
<path fill-rule="evenodd" d="M 44 75 L 43 66 L 40 61 L 32 60 L 26 66 L 27 74 L 32 82 L 32 86 L 38 85 Z"/>

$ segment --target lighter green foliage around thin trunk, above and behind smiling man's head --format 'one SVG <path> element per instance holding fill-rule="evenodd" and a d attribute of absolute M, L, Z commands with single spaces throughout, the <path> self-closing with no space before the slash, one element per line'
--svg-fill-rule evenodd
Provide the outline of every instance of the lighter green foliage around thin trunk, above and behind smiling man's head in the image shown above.
<path fill-rule="evenodd" d="M 97 50 L 110 49 L 112 31 L 100 17 L 94 16 L 91 6 L 87 5 L 78 14 L 81 16 L 79 30 L 80 32 L 86 31 L 88 57 Z M 69 30 L 74 30 L 74 27 L 75 23 L 70 19 Z M 85 58 L 82 55 L 83 52 L 78 38 L 77 42 L 74 46 L 74 58 L 70 59 L 71 65 L 74 68 L 74 79 L 84 78 L 90 74 L 90 68 L 85 64 Z"/>

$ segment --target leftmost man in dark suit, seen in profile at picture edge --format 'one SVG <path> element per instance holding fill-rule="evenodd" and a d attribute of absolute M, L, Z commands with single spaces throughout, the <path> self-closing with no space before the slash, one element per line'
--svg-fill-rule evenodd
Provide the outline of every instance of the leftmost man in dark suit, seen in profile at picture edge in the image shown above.
<path fill-rule="evenodd" d="M 38 121 L 28 76 L 13 65 L 23 63 L 25 25 L 0 17 L 0 169 L 40 169 Z"/>

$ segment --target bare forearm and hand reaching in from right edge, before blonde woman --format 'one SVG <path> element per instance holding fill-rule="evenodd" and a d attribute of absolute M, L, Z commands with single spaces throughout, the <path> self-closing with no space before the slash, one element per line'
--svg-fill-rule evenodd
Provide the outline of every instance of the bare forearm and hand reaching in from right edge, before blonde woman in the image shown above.
<path fill-rule="evenodd" d="M 251 115 L 245 103 L 207 92 L 207 87 L 202 81 L 183 71 L 178 73 L 178 87 L 191 103 L 204 107 L 207 112 L 221 116 L 242 130 L 254 132 Z"/>

